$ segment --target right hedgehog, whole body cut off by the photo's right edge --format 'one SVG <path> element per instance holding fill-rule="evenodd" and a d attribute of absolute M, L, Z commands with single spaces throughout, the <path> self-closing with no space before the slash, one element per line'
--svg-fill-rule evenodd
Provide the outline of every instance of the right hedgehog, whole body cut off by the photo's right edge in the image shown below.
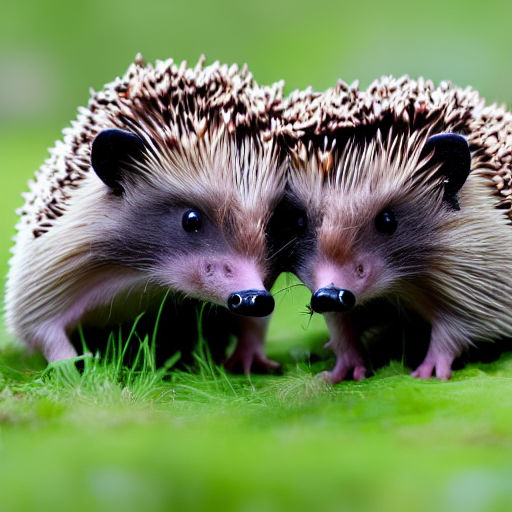
<path fill-rule="evenodd" d="M 365 377 L 358 313 L 376 301 L 429 325 L 414 377 L 447 380 L 470 346 L 512 336 L 511 113 L 405 76 L 294 92 L 282 115 L 289 267 L 325 316 L 330 382 Z"/>

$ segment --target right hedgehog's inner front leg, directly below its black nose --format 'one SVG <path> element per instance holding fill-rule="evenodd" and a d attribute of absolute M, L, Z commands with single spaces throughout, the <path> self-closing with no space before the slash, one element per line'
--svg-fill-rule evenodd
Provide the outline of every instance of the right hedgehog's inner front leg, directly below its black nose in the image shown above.
<path fill-rule="evenodd" d="M 326 313 L 324 315 L 329 328 L 330 341 L 325 345 L 336 355 L 336 364 L 323 377 L 331 384 L 353 377 L 364 379 L 366 367 L 362 356 L 360 333 L 354 321 L 347 313 Z"/>

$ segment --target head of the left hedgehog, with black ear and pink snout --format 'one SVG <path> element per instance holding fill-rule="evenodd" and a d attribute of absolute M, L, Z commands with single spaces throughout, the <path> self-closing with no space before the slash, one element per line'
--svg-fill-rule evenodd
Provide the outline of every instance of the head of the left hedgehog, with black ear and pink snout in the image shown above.
<path fill-rule="evenodd" d="M 265 230 L 284 189 L 272 142 L 219 129 L 165 143 L 105 130 L 91 163 L 116 233 L 104 260 L 238 314 L 272 312 Z"/>

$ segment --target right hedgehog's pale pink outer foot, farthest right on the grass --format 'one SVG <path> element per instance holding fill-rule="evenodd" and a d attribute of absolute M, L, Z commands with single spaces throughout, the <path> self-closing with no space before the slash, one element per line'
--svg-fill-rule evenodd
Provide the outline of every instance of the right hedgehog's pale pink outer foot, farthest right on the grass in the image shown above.
<path fill-rule="evenodd" d="M 432 334 L 427 355 L 423 362 L 411 375 L 420 379 L 429 379 L 435 371 L 435 376 L 448 380 L 452 375 L 452 363 L 460 353 L 460 346 L 453 343 L 453 336 L 443 322 L 432 324 Z"/>

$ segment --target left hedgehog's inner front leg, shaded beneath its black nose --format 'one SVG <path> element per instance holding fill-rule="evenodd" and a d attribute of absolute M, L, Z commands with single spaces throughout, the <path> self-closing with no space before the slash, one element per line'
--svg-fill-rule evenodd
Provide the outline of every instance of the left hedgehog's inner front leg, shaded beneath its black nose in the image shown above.
<path fill-rule="evenodd" d="M 264 372 L 277 370 L 280 364 L 268 359 L 263 351 L 270 316 L 239 317 L 236 320 L 237 344 L 233 354 L 224 363 L 226 369 L 229 371 L 240 369 L 245 374 L 249 374 L 251 370 Z"/>

